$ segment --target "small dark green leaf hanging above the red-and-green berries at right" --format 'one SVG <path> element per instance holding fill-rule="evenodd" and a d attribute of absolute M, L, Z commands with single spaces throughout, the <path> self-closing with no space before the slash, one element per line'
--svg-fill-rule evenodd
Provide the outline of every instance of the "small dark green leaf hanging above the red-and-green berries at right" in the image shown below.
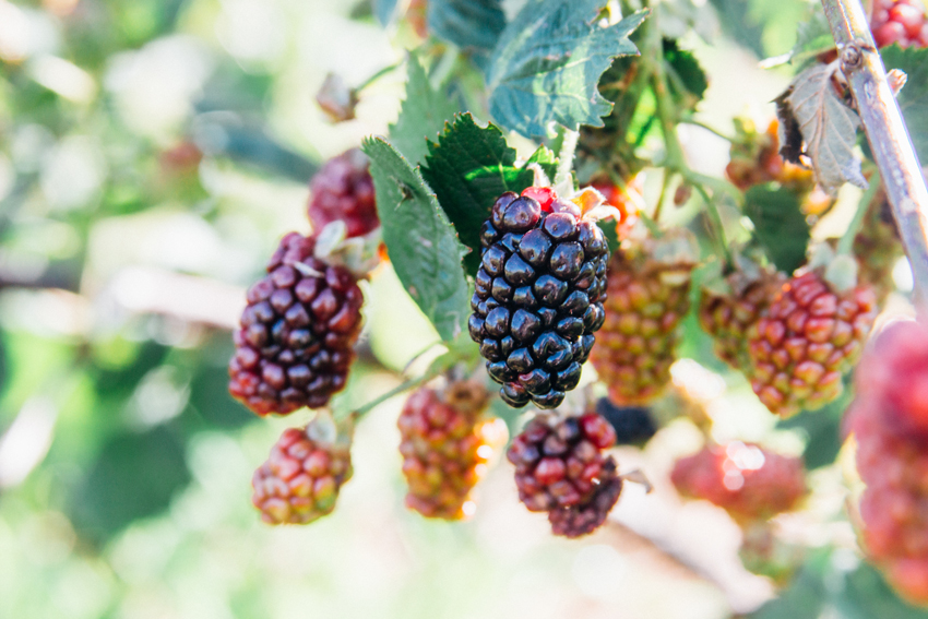
<path fill-rule="evenodd" d="M 799 198 L 773 183 L 758 184 L 745 193 L 745 214 L 754 224 L 754 236 L 776 267 L 793 273 L 806 259 L 809 224 L 799 211 Z"/>

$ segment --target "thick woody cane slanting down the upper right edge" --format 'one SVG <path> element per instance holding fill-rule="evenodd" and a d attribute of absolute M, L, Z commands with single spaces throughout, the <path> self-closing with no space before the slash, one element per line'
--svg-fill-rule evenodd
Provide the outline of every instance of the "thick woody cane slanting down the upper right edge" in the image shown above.
<path fill-rule="evenodd" d="M 822 0 L 905 253 L 915 299 L 928 303 L 928 187 L 859 0 Z"/>

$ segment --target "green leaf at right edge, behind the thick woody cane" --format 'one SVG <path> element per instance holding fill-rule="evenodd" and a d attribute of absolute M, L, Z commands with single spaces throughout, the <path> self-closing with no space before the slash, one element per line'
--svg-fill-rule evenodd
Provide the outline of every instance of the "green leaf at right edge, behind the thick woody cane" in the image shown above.
<path fill-rule="evenodd" d="M 880 50 L 887 70 L 899 69 L 908 75 L 896 100 L 905 117 L 905 126 L 921 165 L 928 164 L 928 48 L 908 47 L 899 44 Z"/>

